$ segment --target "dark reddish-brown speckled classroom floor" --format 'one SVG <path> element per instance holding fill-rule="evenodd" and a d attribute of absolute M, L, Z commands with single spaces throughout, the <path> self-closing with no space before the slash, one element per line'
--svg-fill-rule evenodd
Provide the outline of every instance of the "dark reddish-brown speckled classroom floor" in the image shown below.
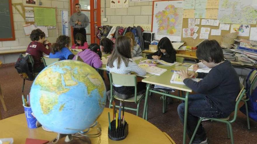
<path fill-rule="evenodd" d="M 3 118 L 8 118 L 13 115 L 24 113 L 22 107 L 22 79 L 18 75 L 14 65 L 0 67 L 0 85 L 4 94 L 7 111 L 5 112 L 0 104 L 0 112 Z M 110 83 L 105 74 L 105 84 L 107 89 L 110 89 Z M 29 93 L 32 81 L 26 81 L 24 94 Z M 143 112 L 143 102 L 140 106 L 140 117 Z M 109 102 L 106 103 L 108 107 Z M 125 103 L 127 106 L 136 107 L 135 103 Z M 148 121 L 166 132 L 176 142 L 182 143 L 183 126 L 178 118 L 177 106 L 180 102 L 175 99 L 173 104 L 168 104 L 166 113 L 162 113 L 162 101 L 160 95 L 152 95 L 149 98 L 149 116 Z M 242 105 L 242 104 L 241 104 Z M 134 111 L 127 111 L 136 114 Z M 206 130 L 207 137 L 211 144 L 226 144 L 230 143 L 227 139 L 226 125 L 218 122 L 204 121 L 202 122 Z M 237 120 L 232 124 L 235 144 L 255 144 L 257 141 L 257 122 L 250 120 L 251 130 L 247 130 L 246 116 L 239 111 Z M 1 128 L 0 128 L 1 129 Z M 0 136 L 1 137 L 1 136 Z M 187 138 L 189 143 L 189 138 Z"/>

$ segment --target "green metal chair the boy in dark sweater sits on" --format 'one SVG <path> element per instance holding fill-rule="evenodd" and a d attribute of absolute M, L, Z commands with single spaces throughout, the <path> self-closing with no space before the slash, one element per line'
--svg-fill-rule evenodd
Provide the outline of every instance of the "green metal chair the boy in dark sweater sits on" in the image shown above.
<path fill-rule="evenodd" d="M 228 139 L 231 140 L 231 144 L 234 144 L 234 138 L 233 138 L 233 132 L 232 132 L 232 125 L 231 123 L 235 122 L 235 120 L 237 119 L 237 111 L 238 111 L 238 105 L 239 105 L 239 102 L 241 101 L 242 97 L 244 96 L 244 93 L 245 93 L 245 89 L 244 89 L 244 85 L 242 83 L 240 83 L 240 92 L 239 94 L 237 95 L 237 99 L 236 99 L 236 105 L 235 105 L 235 114 L 234 114 L 234 117 L 232 120 L 229 120 L 229 116 L 227 118 L 207 118 L 207 119 L 210 119 L 210 120 L 214 120 L 214 121 L 217 121 L 217 122 L 223 122 L 225 124 L 227 124 L 227 131 L 228 131 Z M 195 128 L 195 131 L 192 135 L 192 138 L 190 139 L 190 142 L 189 144 L 192 144 L 194 138 L 195 138 L 195 134 L 202 122 L 204 118 L 200 118 L 198 120 L 198 123 L 197 123 L 197 126 Z"/>

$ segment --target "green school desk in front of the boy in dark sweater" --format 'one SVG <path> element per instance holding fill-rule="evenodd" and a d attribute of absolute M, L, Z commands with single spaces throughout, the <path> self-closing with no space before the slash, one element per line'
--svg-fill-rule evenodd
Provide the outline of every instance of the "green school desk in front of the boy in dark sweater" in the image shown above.
<path fill-rule="evenodd" d="M 186 70 L 186 69 L 187 69 L 186 66 L 176 66 L 176 67 L 173 67 L 173 68 L 167 70 L 166 72 L 164 72 L 164 73 L 163 73 L 162 75 L 160 75 L 160 76 L 153 75 L 153 76 L 151 76 L 151 77 L 142 79 L 142 82 L 147 83 L 147 85 L 146 85 L 146 92 L 145 92 L 144 112 L 143 112 L 143 118 L 144 118 L 145 120 L 147 120 L 146 111 L 148 111 L 148 107 L 149 107 L 149 105 L 147 106 L 147 103 L 148 103 L 148 96 L 149 96 L 148 93 L 149 93 L 149 92 L 158 93 L 158 94 L 160 94 L 160 95 L 166 95 L 166 96 L 168 96 L 168 97 L 173 97 L 173 98 L 181 99 L 181 100 L 184 100 L 184 101 L 185 101 L 185 116 L 184 116 L 184 129 L 183 129 L 183 144 L 185 144 L 185 142 L 186 142 L 188 95 L 189 95 L 190 92 L 192 92 L 192 90 L 191 90 L 190 88 L 188 88 L 187 86 L 185 86 L 185 85 L 170 83 L 170 80 L 171 80 L 171 77 L 172 77 L 172 74 L 173 74 L 173 72 L 171 72 L 171 70 Z M 171 95 L 171 94 L 162 93 L 162 92 L 155 91 L 155 90 L 150 90 L 149 87 L 150 87 L 151 84 L 155 84 L 155 85 L 159 85 L 159 86 L 165 86 L 165 87 L 173 88 L 173 89 L 176 89 L 176 90 L 183 90 L 183 91 L 186 92 L 185 98 L 183 98 L 183 97 L 178 97 L 178 96 Z"/>

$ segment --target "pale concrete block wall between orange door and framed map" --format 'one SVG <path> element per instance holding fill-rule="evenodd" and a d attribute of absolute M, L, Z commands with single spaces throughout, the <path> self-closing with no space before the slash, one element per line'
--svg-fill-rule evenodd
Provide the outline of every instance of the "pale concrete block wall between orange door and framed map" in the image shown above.
<path fill-rule="evenodd" d="M 107 22 L 103 22 L 105 13 Z M 101 25 L 126 24 L 152 24 L 152 1 L 129 2 L 129 8 L 110 8 L 110 0 L 101 0 Z"/>

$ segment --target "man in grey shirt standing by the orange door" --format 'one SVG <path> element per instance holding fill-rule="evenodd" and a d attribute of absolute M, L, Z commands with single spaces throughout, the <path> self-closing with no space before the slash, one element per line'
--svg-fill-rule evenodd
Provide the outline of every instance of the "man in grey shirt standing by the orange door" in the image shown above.
<path fill-rule="evenodd" d="M 85 28 L 89 24 L 89 19 L 84 13 L 81 13 L 81 6 L 79 3 L 75 4 L 75 10 L 76 13 L 72 14 L 72 16 L 70 17 L 70 25 L 73 27 L 74 42 L 77 43 L 75 40 L 75 36 L 77 33 L 81 33 L 86 38 Z"/>

